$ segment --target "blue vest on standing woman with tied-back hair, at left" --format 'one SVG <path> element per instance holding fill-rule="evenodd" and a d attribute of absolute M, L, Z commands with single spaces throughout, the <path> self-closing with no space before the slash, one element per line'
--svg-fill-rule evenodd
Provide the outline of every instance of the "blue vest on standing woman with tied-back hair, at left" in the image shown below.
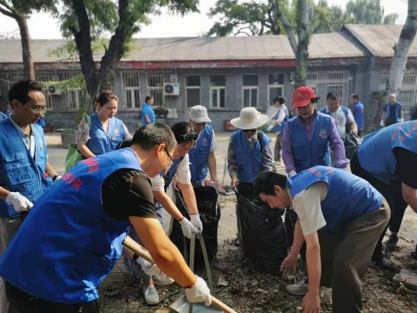
<path fill-rule="evenodd" d="M 104 131 L 103 125 L 97 116 L 92 114 L 90 139 L 87 146 L 95 155 L 111 152 L 116 149 L 117 145 L 123 141 L 124 128 L 122 120 L 111 118 L 108 121 L 107 133 Z"/>

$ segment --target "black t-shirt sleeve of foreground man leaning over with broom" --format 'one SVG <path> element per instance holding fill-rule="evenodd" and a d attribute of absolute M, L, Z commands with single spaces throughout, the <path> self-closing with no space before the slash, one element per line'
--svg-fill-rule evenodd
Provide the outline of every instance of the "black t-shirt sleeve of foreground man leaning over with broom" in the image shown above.
<path fill-rule="evenodd" d="M 121 169 L 113 172 L 101 186 L 101 199 L 104 211 L 112 218 L 158 218 L 151 182 L 138 170 Z"/>

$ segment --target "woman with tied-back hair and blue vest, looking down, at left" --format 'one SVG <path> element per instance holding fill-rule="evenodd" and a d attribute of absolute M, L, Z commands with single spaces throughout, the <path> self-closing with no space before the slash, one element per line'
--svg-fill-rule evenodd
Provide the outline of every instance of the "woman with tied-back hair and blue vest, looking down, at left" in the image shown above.
<path fill-rule="evenodd" d="M 110 90 L 103 90 L 97 98 L 97 112 L 83 118 L 76 131 L 76 145 L 88 159 L 111 152 L 126 139 L 131 139 L 122 120 L 115 118 L 119 99 Z"/>

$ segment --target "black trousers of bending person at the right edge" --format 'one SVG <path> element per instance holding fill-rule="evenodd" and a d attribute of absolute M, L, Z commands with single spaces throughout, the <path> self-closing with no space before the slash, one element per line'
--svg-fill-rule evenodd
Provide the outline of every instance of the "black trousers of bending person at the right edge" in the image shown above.
<path fill-rule="evenodd" d="M 382 195 L 384 196 L 384 198 L 389 204 L 389 207 L 391 210 L 391 217 L 395 216 L 395 209 L 396 209 L 395 198 L 398 198 L 398 197 L 402 198 L 401 183 L 393 182 L 393 184 L 387 185 L 384 182 L 381 182 L 379 179 L 376 179 L 375 177 L 370 175 L 370 173 L 367 172 L 366 170 L 363 170 L 363 168 L 361 168 L 361 165 L 359 164 L 357 151 L 358 150 L 353 152 L 352 159 L 350 159 L 350 170 L 352 170 L 352 173 L 354 175 L 357 175 L 365 179 L 367 182 L 369 182 L 372 186 L 375 187 L 375 189 L 377 189 L 377 191 L 379 191 L 379 193 L 382 193 Z M 386 225 L 385 230 L 384 232 L 382 232 L 381 236 L 379 237 L 377 246 L 375 247 L 375 251 L 372 257 L 372 260 L 375 262 L 381 260 L 384 257 L 384 255 L 382 254 L 382 240 L 384 240 L 384 235 L 387 229 L 388 229 L 388 225 Z"/>

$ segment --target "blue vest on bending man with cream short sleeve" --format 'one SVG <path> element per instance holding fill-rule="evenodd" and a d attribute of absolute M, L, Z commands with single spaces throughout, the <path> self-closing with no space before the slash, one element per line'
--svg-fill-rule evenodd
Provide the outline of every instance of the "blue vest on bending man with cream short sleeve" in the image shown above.
<path fill-rule="evenodd" d="M 326 182 L 329 186 L 326 198 L 321 202 L 327 224 L 322 230 L 342 232 L 354 220 L 376 211 L 382 205 L 382 195 L 366 180 L 327 166 L 303 170 L 288 179 L 288 188 L 295 198 L 315 182 Z"/>

